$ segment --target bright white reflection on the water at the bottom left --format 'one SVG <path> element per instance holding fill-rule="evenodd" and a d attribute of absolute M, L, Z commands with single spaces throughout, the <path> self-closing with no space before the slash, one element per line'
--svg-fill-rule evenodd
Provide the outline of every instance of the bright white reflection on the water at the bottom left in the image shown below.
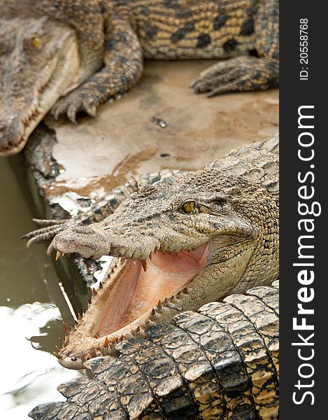
<path fill-rule="evenodd" d="M 48 332 L 59 330 L 61 318 L 52 303 L 22 304 L 17 309 L 0 307 L 0 334 L 6 337 L 0 356 L 5 378 L 0 383 L 1 419 L 27 419 L 35 405 L 64 400 L 56 391 L 57 385 L 76 377 L 76 372 L 64 369 L 48 353 L 52 351 Z"/>

